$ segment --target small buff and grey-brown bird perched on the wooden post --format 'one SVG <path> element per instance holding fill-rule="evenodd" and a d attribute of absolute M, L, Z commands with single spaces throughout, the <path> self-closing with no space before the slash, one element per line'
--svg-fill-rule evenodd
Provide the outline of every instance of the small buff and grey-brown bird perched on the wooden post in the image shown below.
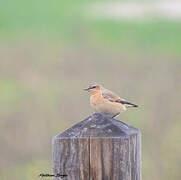
<path fill-rule="evenodd" d="M 97 83 L 90 84 L 84 90 L 90 94 L 90 105 L 94 111 L 105 114 L 111 118 L 126 111 L 127 107 L 138 107 L 138 105 L 120 98 L 117 94 Z"/>

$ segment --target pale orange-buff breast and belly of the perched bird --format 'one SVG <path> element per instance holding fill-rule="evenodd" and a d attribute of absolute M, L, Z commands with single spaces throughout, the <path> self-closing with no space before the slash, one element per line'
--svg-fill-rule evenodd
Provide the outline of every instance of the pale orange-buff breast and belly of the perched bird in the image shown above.
<path fill-rule="evenodd" d="M 126 110 L 126 107 L 120 103 L 111 102 L 102 97 L 101 94 L 95 94 L 90 97 L 90 104 L 95 112 L 114 116 Z"/>

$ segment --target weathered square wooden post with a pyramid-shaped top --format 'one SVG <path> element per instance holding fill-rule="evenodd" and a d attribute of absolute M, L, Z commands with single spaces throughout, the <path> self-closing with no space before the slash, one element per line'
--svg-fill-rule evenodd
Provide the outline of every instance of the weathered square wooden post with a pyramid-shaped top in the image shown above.
<path fill-rule="evenodd" d="M 140 131 L 93 114 L 53 138 L 53 172 L 63 180 L 141 180 Z"/>

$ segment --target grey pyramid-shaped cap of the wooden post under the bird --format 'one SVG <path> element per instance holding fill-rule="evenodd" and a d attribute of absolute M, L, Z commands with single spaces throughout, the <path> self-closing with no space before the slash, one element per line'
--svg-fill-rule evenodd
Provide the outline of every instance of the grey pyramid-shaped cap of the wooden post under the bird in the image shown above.
<path fill-rule="evenodd" d="M 95 113 L 55 136 L 62 138 L 119 137 L 138 134 L 139 130 L 104 114 Z"/>

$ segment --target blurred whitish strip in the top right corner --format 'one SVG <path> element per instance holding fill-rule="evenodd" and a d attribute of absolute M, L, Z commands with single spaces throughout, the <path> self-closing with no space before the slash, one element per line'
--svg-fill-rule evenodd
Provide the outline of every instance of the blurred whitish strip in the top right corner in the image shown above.
<path fill-rule="evenodd" d="M 94 19 L 181 19 L 181 1 L 96 2 L 88 5 L 87 16 Z"/>

